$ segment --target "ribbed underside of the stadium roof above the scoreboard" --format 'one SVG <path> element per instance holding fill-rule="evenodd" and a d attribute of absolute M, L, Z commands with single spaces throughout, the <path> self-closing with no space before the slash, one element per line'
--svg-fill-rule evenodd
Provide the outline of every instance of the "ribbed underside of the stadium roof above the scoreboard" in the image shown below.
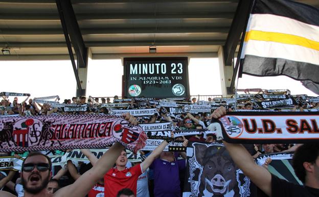
<path fill-rule="evenodd" d="M 249 1 L 243 1 L 242 7 Z M 217 55 L 229 32 L 233 31 L 233 39 L 239 43 L 240 28 L 236 26 L 244 20 L 240 12 L 234 18 L 239 2 L 71 1 L 84 45 L 92 50 L 93 59 L 149 54 L 151 45 L 162 55 Z M 319 8 L 317 0 L 298 2 Z M 237 23 L 231 28 L 233 19 Z M 0 52 L 3 60 L 69 59 L 56 1 L 0 0 L 0 48 L 10 49 L 10 56 Z"/>

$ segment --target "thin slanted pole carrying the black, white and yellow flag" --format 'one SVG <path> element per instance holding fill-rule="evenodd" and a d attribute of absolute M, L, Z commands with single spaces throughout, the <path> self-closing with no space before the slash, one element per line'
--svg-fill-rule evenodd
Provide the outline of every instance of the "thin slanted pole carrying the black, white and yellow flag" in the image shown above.
<path fill-rule="evenodd" d="M 232 82 L 231 82 L 231 86 L 230 86 L 230 91 L 232 91 L 234 89 L 234 86 L 235 86 L 235 80 L 236 80 L 236 76 L 237 76 L 237 72 L 238 72 L 238 68 L 239 68 L 240 56 L 241 56 L 241 51 L 242 51 L 245 35 L 246 35 L 246 29 L 247 29 L 247 25 L 248 25 L 249 16 L 250 16 L 250 13 L 252 13 L 252 10 L 253 10 L 254 5 L 256 3 L 256 0 L 251 0 L 251 1 L 252 1 L 252 3 L 250 4 L 249 13 L 247 15 L 245 27 L 243 29 L 243 33 L 242 33 L 241 40 L 240 40 L 240 46 L 239 46 L 239 51 L 238 51 L 238 55 L 237 55 L 235 69 L 234 69 L 234 72 L 233 72 L 233 77 L 232 77 Z M 241 72 L 238 73 L 238 78 L 241 78 Z"/>

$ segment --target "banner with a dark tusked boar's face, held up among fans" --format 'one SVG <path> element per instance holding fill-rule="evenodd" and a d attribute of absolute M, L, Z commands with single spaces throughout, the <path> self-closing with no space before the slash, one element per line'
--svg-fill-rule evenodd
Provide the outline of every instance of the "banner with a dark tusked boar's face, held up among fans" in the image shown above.
<path fill-rule="evenodd" d="M 248 197 L 249 186 L 222 144 L 188 143 L 183 197 Z"/>

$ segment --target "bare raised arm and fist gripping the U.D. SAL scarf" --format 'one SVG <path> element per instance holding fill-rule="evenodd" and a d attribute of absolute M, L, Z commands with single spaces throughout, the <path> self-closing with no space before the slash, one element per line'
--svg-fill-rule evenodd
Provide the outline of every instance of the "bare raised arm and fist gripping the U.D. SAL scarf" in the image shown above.
<path fill-rule="evenodd" d="M 212 114 L 213 118 L 220 118 L 225 115 L 226 111 L 224 107 L 220 107 Z M 271 197 L 271 174 L 263 168 L 257 165 L 253 157 L 250 156 L 246 148 L 241 144 L 231 144 L 223 141 L 226 149 L 229 151 L 230 156 L 236 165 L 244 172 L 244 174 L 252 180 L 257 187 L 264 191 Z"/>

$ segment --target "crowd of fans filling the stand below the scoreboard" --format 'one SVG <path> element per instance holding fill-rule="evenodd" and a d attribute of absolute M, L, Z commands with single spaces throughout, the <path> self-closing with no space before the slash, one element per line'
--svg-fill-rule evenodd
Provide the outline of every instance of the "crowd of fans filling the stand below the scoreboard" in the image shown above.
<path fill-rule="evenodd" d="M 181 130 L 187 130 L 206 129 L 209 127 L 212 118 L 218 118 L 224 115 L 226 111 L 305 111 L 315 110 L 319 106 L 319 102 L 316 102 L 315 100 L 316 98 L 307 98 L 304 95 L 294 95 L 291 98 L 294 98 L 294 101 L 297 100 L 295 104 L 286 106 L 281 103 L 281 105 L 283 106 L 268 107 L 267 109 L 257 109 L 256 107 L 254 108 L 254 103 L 266 101 L 267 99 L 263 97 L 253 98 L 253 96 L 251 95 L 252 94 L 243 94 L 241 97 L 239 97 L 239 100 L 242 100 L 237 102 L 232 102 L 234 98 L 208 98 L 207 101 L 198 101 L 199 99 L 197 98 L 192 98 L 190 100 L 178 100 L 176 98 L 152 100 L 143 98 L 139 100 L 138 98 L 119 99 L 117 96 L 113 98 L 113 102 L 110 102 L 110 98 L 86 98 L 85 96 L 82 96 L 73 97 L 72 99 L 65 99 L 63 103 L 59 103 L 58 97 L 54 101 L 42 101 L 42 103 L 40 103 L 39 100 L 41 99 L 31 99 L 30 95 L 27 95 L 26 98 L 22 101 L 19 100 L 20 97 L 14 97 L 11 101 L 9 99 L 10 97 L 3 95 L 3 99 L 1 100 L 0 105 L 0 116 L 7 117 L 113 114 L 116 110 L 156 108 L 157 112 L 153 115 L 139 117 L 132 117 L 132 115 L 126 116 L 127 119 L 134 124 L 173 122 L 175 126 L 178 126 L 178 128 L 180 128 Z M 282 93 L 282 95 L 287 95 L 287 92 Z M 299 100 L 297 98 L 299 98 Z M 173 111 L 170 111 L 170 106 L 165 106 L 165 104 L 167 104 L 165 102 L 168 102 L 168 104 L 169 102 L 179 104 L 183 113 L 173 113 Z M 196 113 L 192 113 L 192 111 L 185 111 L 185 105 L 209 105 L 212 107 L 212 110 L 210 112 L 198 111 Z M 66 110 L 67 107 L 69 107 L 69 110 Z M 72 108 L 72 110 L 70 110 L 70 108 Z M 174 138 L 173 132 L 171 132 L 171 138 Z M 245 160 L 241 158 L 241 160 L 243 161 L 250 161 L 253 160 L 253 158 L 257 158 L 261 154 L 294 151 L 300 146 L 293 144 L 246 144 L 244 146 L 244 149 L 248 150 L 249 152 L 250 158 L 248 158 L 246 154 L 247 151 L 243 150 L 241 146 L 234 145 L 233 147 L 233 145 L 229 143 L 217 141 L 215 134 L 204 134 L 203 132 L 201 134 L 193 136 L 179 136 L 176 137 L 175 140 L 183 141 L 183 146 L 185 147 L 187 147 L 189 141 L 202 143 L 224 143 L 226 148 L 231 152 L 230 154 L 235 163 L 244 171 L 244 173 L 252 176 L 249 177 L 247 175 L 250 179 L 252 179 L 254 183 L 257 182 L 255 184 L 269 196 L 276 196 L 271 193 L 271 190 L 269 191 L 270 182 L 268 183 L 265 181 L 270 179 L 270 175 L 263 170 L 260 170 L 262 171 L 261 174 L 264 174 L 266 178 L 264 181 L 256 179 L 254 175 L 250 175 L 250 173 L 252 172 L 247 172 L 249 171 L 249 169 L 247 169 L 247 167 L 243 167 L 246 164 L 239 162 L 238 157 L 241 156 L 246 159 Z M 25 196 L 25 192 L 27 192 L 28 194 L 40 193 L 41 195 L 38 196 L 53 196 L 55 193 L 57 194 L 56 196 L 76 196 L 77 192 L 82 192 L 81 194 L 79 194 L 79 196 L 87 195 L 88 197 L 183 196 L 186 153 L 163 151 L 169 142 L 170 140 L 164 140 L 161 145 L 159 145 L 153 151 L 141 151 L 140 154 L 144 155 L 146 159 L 144 161 L 141 160 L 134 163 L 128 161 L 127 152 L 123 150 L 123 147 L 122 149 L 120 147 L 117 147 L 120 146 L 119 144 L 113 145 L 107 151 L 108 155 L 105 154 L 107 159 L 103 158 L 104 156 L 98 159 L 94 154 L 92 154 L 89 149 L 81 149 L 82 153 L 87 157 L 90 163 L 77 163 L 69 160 L 67 161 L 67 165 L 61 167 L 52 167 L 50 158 L 48 156 L 64 155 L 65 152 L 70 150 L 41 151 L 41 153 L 2 152 L 1 156 L 3 157 L 27 157 L 27 159 L 24 160 L 24 164 L 22 165 L 20 171 L 0 171 L 0 188 L 18 197 Z M 314 154 L 318 154 L 317 145 L 310 148 L 316 150 Z M 118 155 L 120 156 L 114 154 L 115 150 L 118 151 Z M 233 154 L 232 152 L 237 152 L 238 156 L 236 156 L 236 153 Z M 35 159 L 41 161 L 35 162 Z M 315 161 L 319 161 L 317 157 L 315 157 Z M 265 162 L 264 169 L 267 168 L 267 165 L 270 162 L 271 161 L 269 160 Z M 247 164 L 246 166 L 249 167 L 249 165 Z M 316 173 L 319 172 L 318 169 Z M 92 174 L 97 174 L 96 171 L 99 171 L 100 174 L 93 176 Z M 258 170 L 256 171 L 256 173 L 259 174 Z M 300 178 L 300 173 L 296 174 Z M 316 174 L 316 176 L 318 176 L 318 174 Z M 319 179 L 318 177 L 316 178 L 317 180 Z M 275 178 L 272 178 L 272 180 L 274 179 Z M 305 178 L 300 179 L 304 183 L 307 183 L 307 180 L 305 180 Z M 318 182 L 317 180 L 316 183 Z M 277 179 L 276 181 L 278 184 L 285 184 L 278 181 Z M 85 190 L 85 187 L 83 187 L 83 189 L 79 189 L 86 183 L 88 184 L 88 186 L 89 184 L 93 184 L 88 191 Z M 312 187 L 316 188 L 316 186 Z M 70 192 L 74 193 L 70 194 Z M 83 192 L 86 193 L 82 195 Z M 317 192 L 317 190 L 315 192 Z M 10 194 L 8 194 L 8 196 L 10 196 Z"/>

